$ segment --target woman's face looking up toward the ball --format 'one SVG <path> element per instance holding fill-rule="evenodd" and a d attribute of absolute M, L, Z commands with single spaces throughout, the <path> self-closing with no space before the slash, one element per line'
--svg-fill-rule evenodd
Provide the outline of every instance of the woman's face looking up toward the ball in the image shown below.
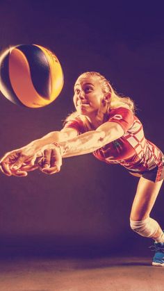
<path fill-rule="evenodd" d="M 79 114 L 91 115 L 101 110 L 104 93 L 97 78 L 78 78 L 74 85 L 74 106 Z"/>

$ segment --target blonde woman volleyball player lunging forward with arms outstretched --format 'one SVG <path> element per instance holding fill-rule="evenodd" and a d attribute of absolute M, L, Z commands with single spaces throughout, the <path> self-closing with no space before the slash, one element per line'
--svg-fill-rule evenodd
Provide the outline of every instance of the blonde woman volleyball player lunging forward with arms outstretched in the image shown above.
<path fill-rule="evenodd" d="M 101 74 L 86 72 L 79 76 L 74 85 L 74 106 L 76 112 L 67 118 L 61 131 L 6 153 L 1 171 L 8 176 L 26 176 L 39 167 L 45 174 L 54 174 L 60 170 L 62 157 L 85 153 L 109 164 L 119 163 L 140 177 L 131 228 L 154 239 L 152 264 L 164 266 L 164 234 L 158 222 L 149 217 L 163 183 L 163 153 L 145 139 L 133 101 L 119 97 Z"/>

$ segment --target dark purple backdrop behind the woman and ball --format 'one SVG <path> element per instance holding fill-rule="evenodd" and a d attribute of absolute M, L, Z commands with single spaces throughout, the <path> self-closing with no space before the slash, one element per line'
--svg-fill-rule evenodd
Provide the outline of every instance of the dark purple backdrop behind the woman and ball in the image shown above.
<path fill-rule="evenodd" d="M 1 1 L 0 49 L 40 44 L 56 53 L 65 85 L 56 101 L 23 108 L 0 96 L 0 155 L 50 131 L 74 110 L 85 71 L 104 74 L 138 108 L 145 136 L 163 150 L 163 9 L 156 1 Z M 0 174 L 1 253 L 149 253 L 129 229 L 138 178 L 92 154 L 63 160 L 60 173 Z M 163 188 L 152 216 L 163 220 Z M 145 248 L 146 247 L 146 248 Z"/>

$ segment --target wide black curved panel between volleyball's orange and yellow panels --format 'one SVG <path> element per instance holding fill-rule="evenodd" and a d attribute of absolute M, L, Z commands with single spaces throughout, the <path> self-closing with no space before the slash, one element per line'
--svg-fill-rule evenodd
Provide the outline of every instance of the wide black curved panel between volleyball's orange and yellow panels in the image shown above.
<path fill-rule="evenodd" d="M 33 44 L 22 44 L 17 49 L 24 53 L 28 60 L 31 72 L 31 80 L 35 90 L 41 97 L 49 99 L 50 93 L 50 68 L 44 52 Z"/>

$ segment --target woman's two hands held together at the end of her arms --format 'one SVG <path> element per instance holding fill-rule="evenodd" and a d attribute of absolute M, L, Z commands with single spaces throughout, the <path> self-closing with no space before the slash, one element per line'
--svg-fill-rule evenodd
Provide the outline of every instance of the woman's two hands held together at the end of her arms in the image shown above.
<path fill-rule="evenodd" d="M 54 144 L 47 144 L 38 152 L 22 147 L 6 153 L 0 161 L 1 172 L 7 176 L 27 176 L 34 169 L 54 174 L 60 171 L 61 165 L 60 149 Z"/>

